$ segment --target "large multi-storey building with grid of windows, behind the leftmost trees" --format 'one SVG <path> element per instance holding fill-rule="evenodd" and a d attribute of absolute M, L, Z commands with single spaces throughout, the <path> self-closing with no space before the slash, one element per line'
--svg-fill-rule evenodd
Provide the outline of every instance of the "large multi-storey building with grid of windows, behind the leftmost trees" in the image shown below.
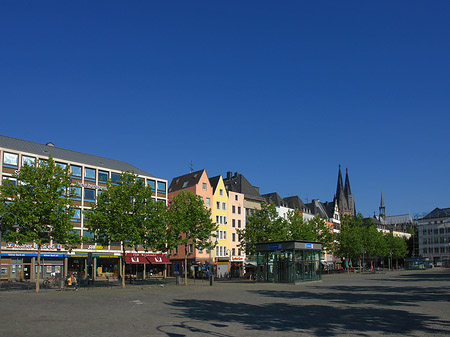
<path fill-rule="evenodd" d="M 128 163 L 102 158 L 94 155 L 55 147 L 52 143 L 38 144 L 25 140 L 0 136 L 0 158 L 2 180 L 17 183 L 12 177 L 25 164 L 37 164 L 40 160 L 52 156 L 57 165 L 69 166 L 72 183 L 75 185 L 77 197 L 75 215 L 72 218 L 73 230 L 86 241 L 72 251 L 66 251 L 57 242 L 42 248 L 40 267 L 41 278 L 54 274 L 67 275 L 77 273 L 82 278 L 118 277 L 121 259 L 121 245 L 101 246 L 94 242 L 93 233 L 89 232 L 84 219 L 84 211 L 91 209 L 97 196 L 106 189 L 106 182 L 115 183 L 120 174 L 130 171 L 144 179 L 153 189 L 154 200 L 167 204 L 167 180 L 138 169 Z M 127 251 L 127 254 L 137 252 Z M 151 263 L 147 258 L 143 262 L 142 277 L 155 273 L 162 275 L 167 265 L 167 259 L 161 252 L 145 253 L 143 256 L 156 256 L 157 261 Z M 18 245 L 13 242 L 1 242 L 1 278 L 34 280 L 38 273 L 36 267 L 37 247 L 31 242 Z M 130 262 L 133 263 L 133 262 Z M 142 264 L 142 263 L 139 263 Z"/>

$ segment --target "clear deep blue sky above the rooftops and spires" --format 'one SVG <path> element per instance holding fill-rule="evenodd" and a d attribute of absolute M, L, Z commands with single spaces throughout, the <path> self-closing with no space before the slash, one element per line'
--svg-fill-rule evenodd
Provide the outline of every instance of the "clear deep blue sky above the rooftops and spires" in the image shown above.
<path fill-rule="evenodd" d="M 449 1 L 0 3 L 0 133 L 169 181 L 450 207 Z"/>

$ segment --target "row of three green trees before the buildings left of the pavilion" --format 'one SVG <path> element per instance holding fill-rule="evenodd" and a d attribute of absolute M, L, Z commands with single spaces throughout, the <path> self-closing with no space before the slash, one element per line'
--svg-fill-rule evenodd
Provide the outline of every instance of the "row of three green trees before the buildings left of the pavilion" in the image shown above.
<path fill-rule="evenodd" d="M 13 179 L 0 185 L 2 234 L 17 244 L 33 242 L 37 246 L 38 270 L 45 245 L 61 244 L 71 250 L 84 241 L 72 223 L 77 208 L 74 200 L 80 197 L 77 187 L 69 167 L 60 167 L 52 157 L 36 165 L 24 165 Z M 196 248 L 213 248 L 217 225 L 199 196 L 182 191 L 167 207 L 162 201 L 156 202 L 152 194 L 143 179 L 123 172 L 119 182 L 108 182 L 97 202 L 85 211 L 84 228 L 94 234 L 97 243 L 120 244 L 123 257 L 126 249 L 167 251 L 180 245 L 187 247 L 188 243 Z M 125 287 L 125 264 L 122 265 Z M 39 277 L 40 272 L 36 292 Z"/>

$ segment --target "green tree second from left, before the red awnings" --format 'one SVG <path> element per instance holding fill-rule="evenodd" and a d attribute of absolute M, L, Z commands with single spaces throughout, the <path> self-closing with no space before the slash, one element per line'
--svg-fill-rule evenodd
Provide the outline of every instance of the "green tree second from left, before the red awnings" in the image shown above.
<path fill-rule="evenodd" d="M 88 229 L 96 242 L 122 245 L 122 269 L 120 276 L 125 288 L 125 251 L 164 250 L 167 240 L 166 206 L 155 202 L 152 188 L 132 172 L 122 172 L 118 183 L 110 181 L 97 198 L 92 209 L 85 211 Z"/>

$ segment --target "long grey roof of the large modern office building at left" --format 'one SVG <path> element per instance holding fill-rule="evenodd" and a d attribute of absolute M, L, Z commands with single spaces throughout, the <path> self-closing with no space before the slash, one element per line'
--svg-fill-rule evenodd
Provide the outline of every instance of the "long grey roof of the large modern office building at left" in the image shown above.
<path fill-rule="evenodd" d="M 135 174 L 153 177 L 153 175 L 123 161 L 94 156 L 72 150 L 66 150 L 53 145 L 39 144 L 2 135 L 0 135 L 0 147 L 4 147 L 12 151 L 26 152 L 40 157 L 52 156 L 56 161 L 61 160 L 68 162 L 78 162 L 85 165 L 100 166 L 104 167 L 105 169 L 117 171 L 130 171 L 134 172 Z"/>

